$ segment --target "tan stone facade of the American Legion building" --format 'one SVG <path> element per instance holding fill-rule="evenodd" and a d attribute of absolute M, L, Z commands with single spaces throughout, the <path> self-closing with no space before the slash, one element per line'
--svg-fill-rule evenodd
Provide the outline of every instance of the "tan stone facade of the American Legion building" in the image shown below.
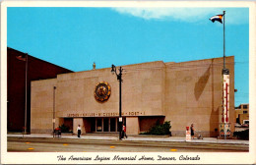
<path fill-rule="evenodd" d="M 172 136 L 184 136 L 192 123 L 204 137 L 218 137 L 223 112 L 223 58 L 123 66 L 122 117 L 127 135 L 170 121 Z M 234 57 L 230 73 L 229 124 L 234 131 Z M 52 133 L 65 125 L 74 133 L 115 133 L 119 82 L 111 68 L 58 75 L 32 82 L 32 133 Z"/>

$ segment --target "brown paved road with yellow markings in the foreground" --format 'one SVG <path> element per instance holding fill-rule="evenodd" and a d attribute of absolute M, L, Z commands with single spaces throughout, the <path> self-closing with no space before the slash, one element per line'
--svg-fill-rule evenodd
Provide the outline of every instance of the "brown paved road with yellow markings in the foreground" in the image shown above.
<path fill-rule="evenodd" d="M 8 138 L 10 152 L 246 152 L 248 145 L 119 141 L 69 138 Z"/>

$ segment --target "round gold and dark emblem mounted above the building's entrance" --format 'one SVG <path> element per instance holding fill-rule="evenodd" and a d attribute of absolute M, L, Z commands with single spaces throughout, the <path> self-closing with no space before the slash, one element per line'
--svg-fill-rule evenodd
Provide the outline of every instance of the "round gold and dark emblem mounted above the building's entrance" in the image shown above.
<path fill-rule="evenodd" d="M 111 87 L 106 82 L 96 84 L 95 97 L 98 102 L 105 102 L 111 94 Z"/>

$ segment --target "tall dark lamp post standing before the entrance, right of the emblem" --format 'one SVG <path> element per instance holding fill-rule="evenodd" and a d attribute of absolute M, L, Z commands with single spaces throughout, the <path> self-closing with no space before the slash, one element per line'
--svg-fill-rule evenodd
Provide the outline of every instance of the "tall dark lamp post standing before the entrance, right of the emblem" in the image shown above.
<path fill-rule="evenodd" d="M 119 139 L 121 139 L 121 132 L 122 132 L 122 128 L 121 128 L 121 124 L 122 124 L 122 67 L 120 67 L 119 69 L 119 74 L 116 73 L 116 67 L 112 64 L 112 70 L 111 73 L 115 74 L 117 77 L 117 81 L 119 81 L 119 120 L 118 120 L 118 128 L 119 128 Z"/>

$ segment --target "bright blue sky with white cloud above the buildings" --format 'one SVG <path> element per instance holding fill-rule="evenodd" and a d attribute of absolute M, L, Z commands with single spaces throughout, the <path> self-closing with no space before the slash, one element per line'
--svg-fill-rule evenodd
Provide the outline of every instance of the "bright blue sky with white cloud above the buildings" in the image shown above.
<path fill-rule="evenodd" d="M 234 56 L 235 106 L 249 103 L 248 8 L 8 7 L 7 45 L 74 72 Z"/>

